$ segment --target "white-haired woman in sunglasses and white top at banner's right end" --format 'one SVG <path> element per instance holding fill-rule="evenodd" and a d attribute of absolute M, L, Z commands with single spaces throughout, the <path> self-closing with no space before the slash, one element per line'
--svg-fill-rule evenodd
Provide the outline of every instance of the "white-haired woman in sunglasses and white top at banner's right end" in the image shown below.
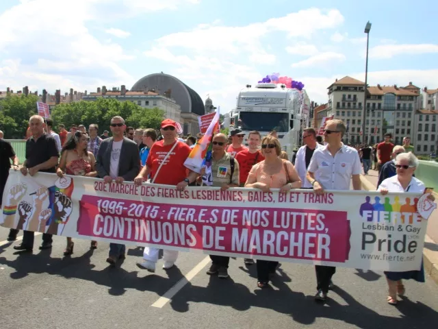
<path fill-rule="evenodd" d="M 378 186 L 377 191 L 380 191 L 382 195 L 386 195 L 388 192 L 397 193 L 424 193 L 424 183 L 421 180 L 413 177 L 415 169 L 418 167 L 418 159 L 412 152 L 400 153 L 396 156 L 396 175 L 386 180 Z M 430 195 L 431 200 L 435 200 L 435 197 Z M 423 263 L 420 271 L 406 271 L 406 272 L 385 272 L 385 276 L 388 283 L 388 297 L 387 302 L 391 305 L 397 304 L 397 295 L 404 295 L 404 285 L 402 279 L 413 279 L 418 282 L 424 282 L 424 269 Z"/>

